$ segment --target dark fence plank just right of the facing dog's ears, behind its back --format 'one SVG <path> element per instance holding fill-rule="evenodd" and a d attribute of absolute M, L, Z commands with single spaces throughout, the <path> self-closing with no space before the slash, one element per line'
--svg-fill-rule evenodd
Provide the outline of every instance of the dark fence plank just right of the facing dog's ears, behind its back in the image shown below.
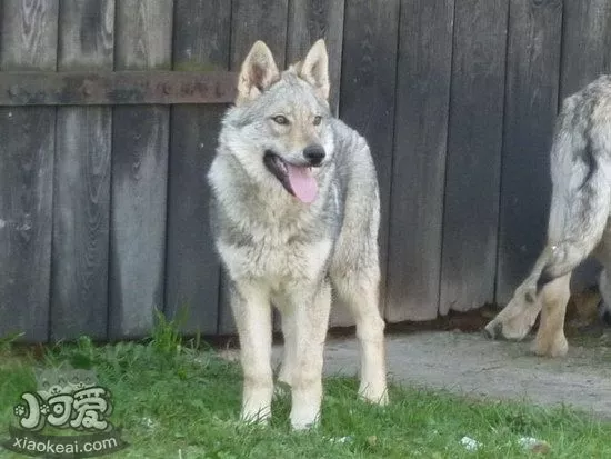
<path fill-rule="evenodd" d="M 368 140 L 378 172 L 382 213 L 379 237 L 382 311 L 385 292 L 398 28 L 399 0 L 375 4 L 369 1 L 345 3 L 340 118 Z M 345 309 L 334 308 L 331 325 L 353 323 L 352 317 L 345 312 Z"/>

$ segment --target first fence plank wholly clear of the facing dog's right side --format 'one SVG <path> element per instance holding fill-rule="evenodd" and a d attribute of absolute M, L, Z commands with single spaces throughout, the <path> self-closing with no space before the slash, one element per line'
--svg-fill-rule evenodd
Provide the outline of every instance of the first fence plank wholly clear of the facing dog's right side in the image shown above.
<path fill-rule="evenodd" d="M 439 307 L 454 0 L 401 3 L 387 319 Z"/>

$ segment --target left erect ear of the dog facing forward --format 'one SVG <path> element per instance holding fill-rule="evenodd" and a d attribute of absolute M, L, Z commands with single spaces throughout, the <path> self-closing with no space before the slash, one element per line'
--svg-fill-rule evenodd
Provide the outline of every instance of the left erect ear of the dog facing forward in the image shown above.
<path fill-rule="evenodd" d="M 236 104 L 257 99 L 279 77 L 280 73 L 270 49 L 262 41 L 257 41 L 240 70 Z"/>

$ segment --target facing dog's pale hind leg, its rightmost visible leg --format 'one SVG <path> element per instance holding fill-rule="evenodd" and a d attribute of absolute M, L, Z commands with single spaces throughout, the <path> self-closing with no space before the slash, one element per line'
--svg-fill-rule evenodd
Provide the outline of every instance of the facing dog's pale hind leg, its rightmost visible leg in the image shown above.
<path fill-rule="evenodd" d="M 361 353 L 359 395 L 373 403 L 387 405 L 384 321 L 378 309 L 379 275 L 372 272 L 367 279 L 338 276 L 334 285 L 357 323 Z"/>

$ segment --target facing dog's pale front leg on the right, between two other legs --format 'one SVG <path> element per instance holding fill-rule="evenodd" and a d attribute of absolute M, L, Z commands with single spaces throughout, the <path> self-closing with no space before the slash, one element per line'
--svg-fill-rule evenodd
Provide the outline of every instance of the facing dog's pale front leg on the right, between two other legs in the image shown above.
<path fill-rule="evenodd" d="M 291 381 L 291 426 L 296 430 L 314 426 L 322 401 L 322 359 L 331 309 L 331 288 L 324 282 L 312 292 L 291 299 L 294 317 L 296 361 Z M 309 299 L 309 300 L 308 300 Z"/>

